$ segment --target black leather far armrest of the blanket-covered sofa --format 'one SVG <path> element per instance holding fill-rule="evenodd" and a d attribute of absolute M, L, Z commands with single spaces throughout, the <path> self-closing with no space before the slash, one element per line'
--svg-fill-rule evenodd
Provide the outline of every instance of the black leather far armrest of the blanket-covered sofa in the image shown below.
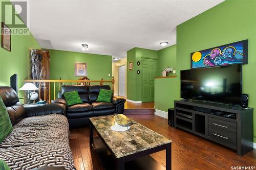
<path fill-rule="evenodd" d="M 39 116 L 46 114 L 65 114 L 66 106 L 63 104 L 42 104 L 42 105 L 27 105 L 24 106 L 27 117 Z"/>

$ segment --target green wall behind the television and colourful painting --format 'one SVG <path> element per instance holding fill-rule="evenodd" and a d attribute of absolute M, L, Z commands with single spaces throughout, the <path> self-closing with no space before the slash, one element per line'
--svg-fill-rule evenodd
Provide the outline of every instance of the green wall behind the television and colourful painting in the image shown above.
<path fill-rule="evenodd" d="M 177 26 L 177 87 L 179 99 L 180 70 L 190 68 L 190 53 L 210 47 L 249 40 L 248 64 L 243 65 L 243 92 L 249 94 L 249 107 L 256 109 L 256 1 L 226 0 L 214 8 Z M 256 142 L 256 115 L 253 113 Z"/>

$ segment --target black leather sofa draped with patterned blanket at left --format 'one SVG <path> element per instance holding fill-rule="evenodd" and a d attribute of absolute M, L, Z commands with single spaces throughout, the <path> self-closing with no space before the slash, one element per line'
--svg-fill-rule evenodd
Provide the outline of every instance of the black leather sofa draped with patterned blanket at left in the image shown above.
<path fill-rule="evenodd" d="M 56 168 L 49 169 L 75 170 L 69 145 L 69 124 L 63 115 L 65 106 L 24 107 L 17 93 L 7 86 L 0 86 L 0 96 L 13 125 L 12 132 L 0 142 L 0 159 L 10 169 L 48 169 L 54 166 Z"/>

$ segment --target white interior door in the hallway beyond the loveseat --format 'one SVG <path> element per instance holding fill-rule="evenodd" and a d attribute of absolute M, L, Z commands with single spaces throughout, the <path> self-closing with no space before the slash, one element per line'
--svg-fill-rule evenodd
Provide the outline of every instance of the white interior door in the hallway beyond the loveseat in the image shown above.
<path fill-rule="evenodd" d="M 118 95 L 126 96 L 125 92 L 126 65 L 118 68 Z"/>

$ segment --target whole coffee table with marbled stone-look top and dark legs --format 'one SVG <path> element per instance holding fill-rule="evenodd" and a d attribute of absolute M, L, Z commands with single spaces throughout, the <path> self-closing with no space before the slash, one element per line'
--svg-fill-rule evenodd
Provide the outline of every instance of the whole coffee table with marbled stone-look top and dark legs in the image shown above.
<path fill-rule="evenodd" d="M 149 156 L 162 150 L 166 150 L 166 169 L 172 168 L 172 140 L 139 123 L 123 132 L 111 130 L 114 124 L 114 115 L 90 118 L 90 146 L 97 152 L 105 169 L 165 169 Z"/>

